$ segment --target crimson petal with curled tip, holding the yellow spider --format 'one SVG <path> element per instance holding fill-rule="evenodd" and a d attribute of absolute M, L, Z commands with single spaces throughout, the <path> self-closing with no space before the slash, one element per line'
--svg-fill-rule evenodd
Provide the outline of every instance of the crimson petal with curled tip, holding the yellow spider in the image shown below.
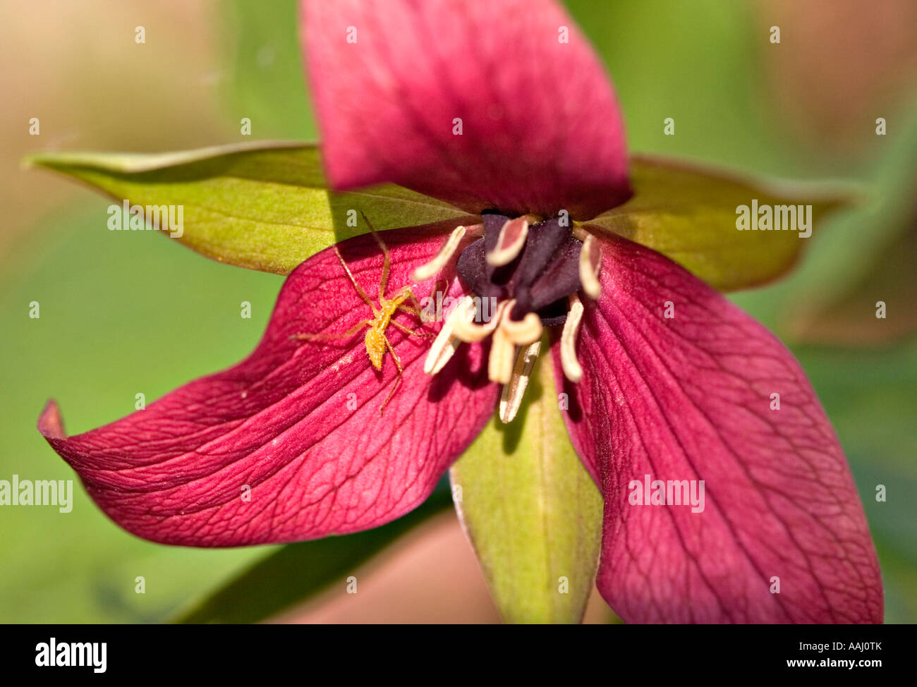
<path fill-rule="evenodd" d="M 392 294 L 444 234 L 412 228 L 383 236 Z M 375 241 L 362 236 L 339 247 L 375 300 L 382 261 Z M 460 295 L 458 280 L 450 283 Z M 462 347 L 432 378 L 423 371 L 428 339 L 390 326 L 404 373 L 380 416 L 395 368 L 388 354 L 381 372 L 370 366 L 365 330 L 347 339 L 292 339 L 345 332 L 370 316 L 326 249 L 289 276 L 260 345 L 236 367 L 70 438 L 52 402 L 39 429 L 107 515 L 154 541 L 266 544 L 382 525 L 425 500 L 492 415 L 498 389 L 487 382 L 479 347 Z M 421 327 L 410 314 L 396 320 L 430 332 L 441 326 Z"/>

